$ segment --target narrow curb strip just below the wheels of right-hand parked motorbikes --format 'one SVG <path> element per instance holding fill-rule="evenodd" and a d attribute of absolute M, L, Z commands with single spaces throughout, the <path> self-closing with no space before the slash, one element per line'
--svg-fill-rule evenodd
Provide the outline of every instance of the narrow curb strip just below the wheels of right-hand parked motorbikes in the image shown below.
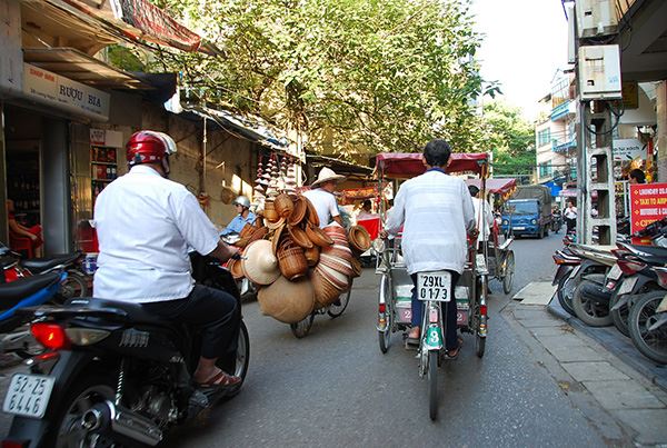
<path fill-rule="evenodd" d="M 554 305 L 551 301 L 547 306 L 547 311 L 561 320 L 565 320 L 570 326 L 575 327 L 577 330 L 584 332 L 589 338 L 594 339 L 600 346 L 603 346 L 606 350 L 610 351 L 614 356 L 620 359 L 626 365 L 630 366 L 644 377 L 646 377 L 653 385 L 658 386 L 663 391 L 667 392 L 667 368 L 666 367 L 657 367 L 650 362 L 647 358 L 637 352 L 637 356 L 631 356 L 626 354 L 624 350 L 620 350 L 616 344 L 610 341 L 608 338 L 600 337 L 597 331 L 593 331 L 591 327 L 588 327 L 579 319 L 570 316 L 566 310 L 564 310 L 559 303 Z M 618 335 L 619 337 L 624 337 L 623 335 Z M 661 369 L 664 370 L 663 375 L 658 375 L 655 370 Z"/>

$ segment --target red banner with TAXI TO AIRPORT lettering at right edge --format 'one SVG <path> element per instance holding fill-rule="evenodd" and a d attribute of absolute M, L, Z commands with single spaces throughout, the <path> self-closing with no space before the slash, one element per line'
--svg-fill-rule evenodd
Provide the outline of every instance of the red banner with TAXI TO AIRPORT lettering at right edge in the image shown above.
<path fill-rule="evenodd" d="M 631 231 L 667 216 L 667 183 L 630 185 Z"/>

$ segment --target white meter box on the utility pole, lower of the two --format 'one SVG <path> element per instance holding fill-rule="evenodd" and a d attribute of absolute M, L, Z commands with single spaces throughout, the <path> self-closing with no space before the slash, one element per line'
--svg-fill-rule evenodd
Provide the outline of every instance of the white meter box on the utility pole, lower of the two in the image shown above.
<path fill-rule="evenodd" d="M 579 93 L 583 101 L 623 98 L 618 46 L 579 47 Z"/>

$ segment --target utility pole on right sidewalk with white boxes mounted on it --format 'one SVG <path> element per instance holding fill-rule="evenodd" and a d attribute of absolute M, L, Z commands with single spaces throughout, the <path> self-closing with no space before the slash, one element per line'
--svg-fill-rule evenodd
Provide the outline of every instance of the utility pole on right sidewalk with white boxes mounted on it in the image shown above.
<path fill-rule="evenodd" d="M 576 63 L 578 89 L 577 125 L 577 236 L 593 242 L 594 227 L 598 245 L 616 242 L 616 202 L 614 190 L 614 129 L 621 115 L 620 48 L 599 44 L 617 33 L 614 1 L 577 0 L 570 13 L 570 62 Z M 573 14 L 574 13 L 574 14 Z M 573 16 L 576 18 L 574 20 Z M 574 36 L 573 36 L 574 33 Z M 573 51 L 574 49 L 574 51 Z M 593 216 L 593 205 L 597 215 Z"/>

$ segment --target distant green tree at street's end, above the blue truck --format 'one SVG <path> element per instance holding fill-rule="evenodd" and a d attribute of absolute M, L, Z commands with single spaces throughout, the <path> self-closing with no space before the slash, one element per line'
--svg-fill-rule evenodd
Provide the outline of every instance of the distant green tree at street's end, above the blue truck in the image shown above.
<path fill-rule="evenodd" d="M 518 108 L 500 101 L 484 106 L 485 140 L 494 151 L 495 175 L 532 175 L 535 128 Z"/>

